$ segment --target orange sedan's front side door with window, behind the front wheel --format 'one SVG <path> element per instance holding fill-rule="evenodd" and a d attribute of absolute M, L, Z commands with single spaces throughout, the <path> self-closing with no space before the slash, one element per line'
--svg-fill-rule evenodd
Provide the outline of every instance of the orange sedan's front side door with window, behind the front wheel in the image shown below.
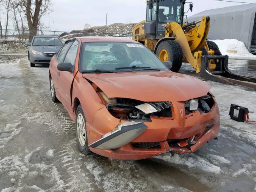
<path fill-rule="evenodd" d="M 62 97 L 61 99 L 62 104 L 68 110 L 70 115 L 73 115 L 72 101 L 71 101 L 72 99 L 71 86 L 77 72 L 77 70 L 75 71 L 77 52 L 78 52 L 78 41 L 74 40 L 63 60 L 64 63 L 72 64 L 73 72 L 70 73 L 67 71 L 58 71 L 58 74 L 59 74 L 58 75 L 58 92 Z"/>

